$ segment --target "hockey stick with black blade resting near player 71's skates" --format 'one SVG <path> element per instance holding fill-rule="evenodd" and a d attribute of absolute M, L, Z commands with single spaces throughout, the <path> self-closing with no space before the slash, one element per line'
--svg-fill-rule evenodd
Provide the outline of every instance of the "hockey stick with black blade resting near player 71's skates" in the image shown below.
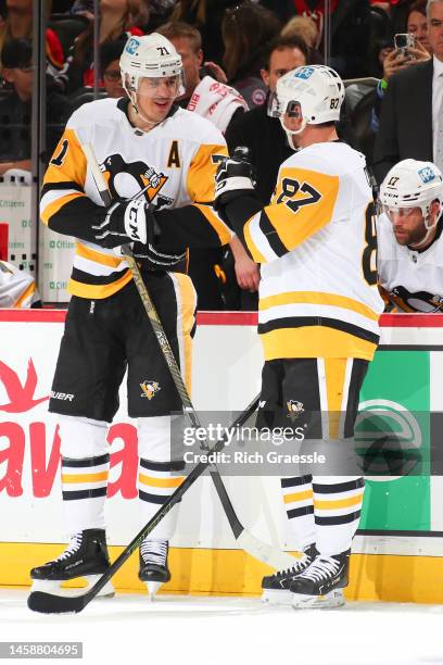
<path fill-rule="evenodd" d="M 254 413 L 258 404 L 258 397 L 256 397 L 251 404 L 239 415 L 239 417 L 232 423 L 229 431 L 240 427 L 248 421 L 248 418 Z M 207 455 L 216 453 L 225 447 L 227 435 L 223 439 L 217 441 L 213 448 L 207 451 Z M 206 457 L 208 459 L 208 457 Z M 203 472 L 211 465 L 211 462 L 199 462 L 197 466 L 191 470 L 189 476 L 177 487 L 173 494 L 167 501 L 159 509 L 148 524 L 137 534 L 137 536 L 130 541 L 130 543 L 124 549 L 122 554 L 117 556 L 114 563 L 107 568 L 105 573 L 97 580 L 86 593 L 79 593 L 78 595 L 60 595 L 58 593 L 47 593 L 46 591 L 31 591 L 29 593 L 27 604 L 29 610 L 34 612 L 42 612 L 45 614 L 62 614 L 65 612 L 81 612 L 96 598 L 98 592 L 110 581 L 115 573 L 123 566 L 123 564 L 129 559 L 132 552 L 142 543 L 144 538 L 151 534 L 156 527 L 159 522 L 170 511 L 170 509 L 181 499 L 186 491 L 195 482 Z M 292 557 L 293 561 L 293 557 Z"/>

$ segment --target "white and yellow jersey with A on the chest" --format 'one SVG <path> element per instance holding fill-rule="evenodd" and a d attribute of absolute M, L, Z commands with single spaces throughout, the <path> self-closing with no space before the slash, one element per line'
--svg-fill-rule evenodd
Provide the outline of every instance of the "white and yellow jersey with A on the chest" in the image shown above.
<path fill-rule="evenodd" d="M 130 198 L 148 186 L 144 197 L 154 205 L 160 225 L 162 214 L 167 219 L 172 235 L 200 234 L 203 247 L 218 247 L 231 238 L 205 205 L 214 200 L 214 175 L 220 155 L 227 154 L 221 133 L 178 108 L 143 133 L 129 123 L 127 104 L 127 99 L 103 99 L 75 111 L 45 175 L 41 219 L 78 239 L 68 290 L 84 298 L 106 298 L 131 279 L 124 258 L 93 242 L 91 218 L 102 202 L 81 149 L 86 143 L 92 146 L 113 198 Z M 170 224 L 177 209 L 185 225 L 181 231 Z M 186 249 L 186 240 L 180 247 Z"/>

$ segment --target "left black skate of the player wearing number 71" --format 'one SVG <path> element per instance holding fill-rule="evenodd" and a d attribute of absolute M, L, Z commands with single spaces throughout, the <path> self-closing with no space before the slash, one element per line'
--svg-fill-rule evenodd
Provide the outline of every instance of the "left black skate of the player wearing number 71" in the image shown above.
<path fill-rule="evenodd" d="M 86 579 L 89 589 L 110 565 L 104 530 L 86 529 L 72 536 L 60 556 L 31 569 L 31 591 L 54 591 L 61 588 L 63 581 L 79 577 Z M 114 595 L 111 582 L 101 589 L 99 595 Z"/>

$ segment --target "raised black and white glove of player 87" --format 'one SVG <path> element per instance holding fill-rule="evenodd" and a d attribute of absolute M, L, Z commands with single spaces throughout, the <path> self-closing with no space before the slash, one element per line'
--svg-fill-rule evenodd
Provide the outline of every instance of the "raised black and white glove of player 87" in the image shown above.
<path fill-rule="evenodd" d="M 220 162 L 215 174 L 215 210 L 223 209 L 229 201 L 254 191 L 253 168 L 248 161 L 248 148 L 238 147 L 232 156 Z"/>

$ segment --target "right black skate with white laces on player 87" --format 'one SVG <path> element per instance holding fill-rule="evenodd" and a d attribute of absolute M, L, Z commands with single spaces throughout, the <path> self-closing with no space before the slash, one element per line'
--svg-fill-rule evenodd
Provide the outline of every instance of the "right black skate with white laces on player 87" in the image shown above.
<path fill-rule="evenodd" d="M 313 563 L 291 582 L 293 607 L 340 607 L 344 605 L 343 589 L 347 587 L 351 551 L 325 556 Z"/>

